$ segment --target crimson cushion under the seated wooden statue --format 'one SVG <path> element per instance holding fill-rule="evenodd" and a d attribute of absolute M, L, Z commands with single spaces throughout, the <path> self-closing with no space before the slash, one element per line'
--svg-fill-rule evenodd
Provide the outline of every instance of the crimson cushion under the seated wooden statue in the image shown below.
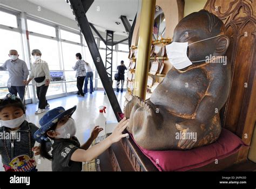
<path fill-rule="evenodd" d="M 152 151 L 138 147 L 159 171 L 187 171 L 212 163 L 215 159 L 230 156 L 241 146 L 246 144 L 231 131 L 223 128 L 216 142 L 192 150 Z"/>

